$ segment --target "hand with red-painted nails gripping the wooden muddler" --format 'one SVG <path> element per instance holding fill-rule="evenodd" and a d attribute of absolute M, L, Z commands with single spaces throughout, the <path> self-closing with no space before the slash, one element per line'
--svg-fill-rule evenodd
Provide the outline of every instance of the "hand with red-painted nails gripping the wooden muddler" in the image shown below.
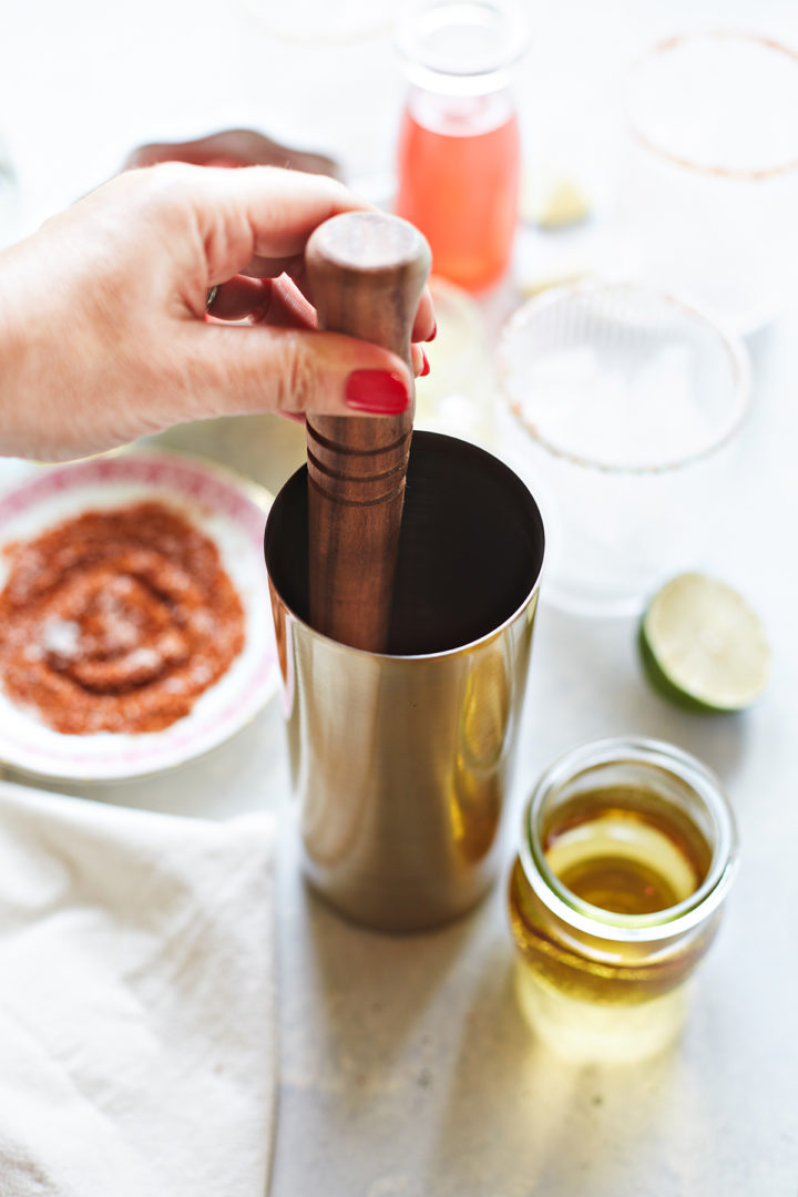
<path fill-rule="evenodd" d="M 318 332 L 305 294 L 310 233 L 367 207 L 323 176 L 171 163 L 47 221 L 0 254 L 0 452 L 67 460 L 251 412 L 398 414 L 404 363 Z M 214 317 L 251 324 L 208 321 L 213 287 Z M 433 330 L 425 292 L 413 339 Z"/>

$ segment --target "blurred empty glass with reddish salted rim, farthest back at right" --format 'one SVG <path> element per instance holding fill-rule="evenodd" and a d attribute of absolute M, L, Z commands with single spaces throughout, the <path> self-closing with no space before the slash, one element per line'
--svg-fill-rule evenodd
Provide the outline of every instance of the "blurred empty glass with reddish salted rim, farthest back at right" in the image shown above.
<path fill-rule="evenodd" d="M 619 218 L 648 281 L 749 334 L 792 285 L 798 54 L 741 31 L 659 42 L 623 84 Z"/>

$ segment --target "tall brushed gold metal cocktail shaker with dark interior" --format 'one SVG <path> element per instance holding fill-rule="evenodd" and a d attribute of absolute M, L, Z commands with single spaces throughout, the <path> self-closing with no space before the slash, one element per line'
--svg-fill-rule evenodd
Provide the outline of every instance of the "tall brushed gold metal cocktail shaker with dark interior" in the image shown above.
<path fill-rule="evenodd" d="M 266 529 L 304 867 L 342 913 L 412 931 L 495 877 L 543 559 L 526 486 L 464 440 L 415 432 L 388 651 L 307 622 L 307 475 Z"/>

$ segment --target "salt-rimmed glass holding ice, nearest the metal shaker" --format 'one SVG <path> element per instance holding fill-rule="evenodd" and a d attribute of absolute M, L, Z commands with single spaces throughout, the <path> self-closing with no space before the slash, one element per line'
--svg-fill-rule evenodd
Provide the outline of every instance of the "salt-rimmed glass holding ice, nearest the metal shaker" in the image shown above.
<path fill-rule="evenodd" d="M 497 450 L 543 511 L 544 601 L 631 615 L 701 566 L 748 411 L 737 340 L 674 296 L 590 281 L 520 308 L 498 366 Z"/>

